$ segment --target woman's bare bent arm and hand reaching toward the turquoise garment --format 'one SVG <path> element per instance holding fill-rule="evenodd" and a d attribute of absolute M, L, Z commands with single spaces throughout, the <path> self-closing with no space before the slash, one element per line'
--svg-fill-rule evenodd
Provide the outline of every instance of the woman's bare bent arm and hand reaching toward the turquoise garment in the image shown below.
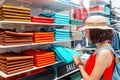
<path fill-rule="evenodd" d="M 79 57 L 76 55 L 73 56 L 74 61 L 78 64 Z M 103 50 L 100 52 L 98 58 L 96 59 L 96 63 L 91 75 L 88 75 L 83 67 L 83 65 L 79 65 L 80 72 L 84 80 L 100 80 L 101 76 L 103 75 L 105 69 L 111 64 L 112 56 L 109 50 Z"/>

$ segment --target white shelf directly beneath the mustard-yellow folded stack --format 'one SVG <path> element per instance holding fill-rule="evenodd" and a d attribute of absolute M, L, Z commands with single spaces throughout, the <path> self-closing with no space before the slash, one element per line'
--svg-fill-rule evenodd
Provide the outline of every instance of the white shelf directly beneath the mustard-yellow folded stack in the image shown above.
<path fill-rule="evenodd" d="M 24 26 L 80 26 L 70 24 L 49 24 L 49 23 L 37 23 L 37 22 L 17 22 L 17 21 L 0 21 L 0 25 L 24 25 Z"/>

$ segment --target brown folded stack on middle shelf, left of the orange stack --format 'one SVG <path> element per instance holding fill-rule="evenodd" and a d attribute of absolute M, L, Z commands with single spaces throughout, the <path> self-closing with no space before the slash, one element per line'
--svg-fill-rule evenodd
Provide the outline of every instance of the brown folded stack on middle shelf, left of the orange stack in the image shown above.
<path fill-rule="evenodd" d="M 0 30 L 0 45 L 31 44 L 33 33 Z"/>

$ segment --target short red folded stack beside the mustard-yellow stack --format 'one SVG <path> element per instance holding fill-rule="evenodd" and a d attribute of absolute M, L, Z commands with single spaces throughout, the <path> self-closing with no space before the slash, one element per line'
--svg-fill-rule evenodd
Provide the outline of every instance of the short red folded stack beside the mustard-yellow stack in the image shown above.
<path fill-rule="evenodd" d="M 41 17 L 41 16 L 31 16 L 31 22 L 39 23 L 54 23 L 54 18 Z"/>

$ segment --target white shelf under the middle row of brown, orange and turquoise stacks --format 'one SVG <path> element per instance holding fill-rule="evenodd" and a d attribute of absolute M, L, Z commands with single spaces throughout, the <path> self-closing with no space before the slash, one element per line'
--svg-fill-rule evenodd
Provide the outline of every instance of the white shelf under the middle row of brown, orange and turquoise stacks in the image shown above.
<path fill-rule="evenodd" d="M 33 45 L 42 45 L 42 44 L 50 44 L 50 43 L 61 43 L 61 42 L 70 42 L 73 40 L 65 40 L 65 41 L 54 41 L 54 42 L 43 42 L 43 43 L 32 43 L 32 44 L 21 44 L 21 45 L 11 45 L 11 46 L 4 46 L 0 45 L 0 48 L 14 48 L 14 47 L 22 47 L 22 46 L 33 46 Z"/>

